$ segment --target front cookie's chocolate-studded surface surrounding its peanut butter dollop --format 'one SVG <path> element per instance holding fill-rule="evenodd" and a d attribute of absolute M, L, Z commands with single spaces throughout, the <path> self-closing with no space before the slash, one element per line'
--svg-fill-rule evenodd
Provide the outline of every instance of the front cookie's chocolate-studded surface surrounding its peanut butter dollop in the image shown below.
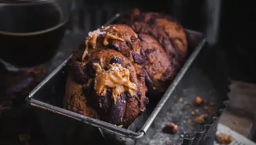
<path fill-rule="evenodd" d="M 135 93 L 130 95 L 125 91 L 119 94 L 116 104 L 111 97 L 113 88 L 107 87 L 106 93 L 99 96 L 94 88 L 96 72 L 93 64 L 99 64 L 106 71 L 111 64 L 119 64 L 129 70 L 129 80 L 136 85 Z M 64 107 L 85 116 L 127 128 L 140 112 L 145 111 L 145 105 L 148 103 L 146 91 L 145 73 L 141 69 L 132 65 L 128 58 L 115 50 L 101 50 L 85 62 L 71 63 Z"/>

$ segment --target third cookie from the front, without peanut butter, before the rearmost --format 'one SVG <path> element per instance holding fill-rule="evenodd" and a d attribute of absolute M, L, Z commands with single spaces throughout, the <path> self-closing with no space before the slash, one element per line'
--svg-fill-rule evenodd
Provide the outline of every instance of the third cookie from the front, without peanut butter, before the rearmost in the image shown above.
<path fill-rule="evenodd" d="M 138 37 L 147 56 L 144 65 L 144 71 L 148 74 L 146 85 L 154 91 L 163 92 L 174 76 L 174 66 L 157 40 L 145 34 L 139 34 Z"/>

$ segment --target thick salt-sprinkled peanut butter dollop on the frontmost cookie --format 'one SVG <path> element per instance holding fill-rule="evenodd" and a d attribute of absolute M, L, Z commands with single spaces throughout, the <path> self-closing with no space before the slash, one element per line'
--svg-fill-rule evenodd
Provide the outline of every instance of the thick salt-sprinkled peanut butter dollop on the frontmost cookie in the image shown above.
<path fill-rule="evenodd" d="M 113 88 L 111 97 L 116 104 L 116 99 L 125 91 L 134 95 L 136 85 L 129 80 L 130 72 L 119 64 L 110 64 L 108 70 L 103 70 L 98 63 L 93 63 L 96 70 L 94 89 L 98 96 L 104 96 L 107 87 Z"/>

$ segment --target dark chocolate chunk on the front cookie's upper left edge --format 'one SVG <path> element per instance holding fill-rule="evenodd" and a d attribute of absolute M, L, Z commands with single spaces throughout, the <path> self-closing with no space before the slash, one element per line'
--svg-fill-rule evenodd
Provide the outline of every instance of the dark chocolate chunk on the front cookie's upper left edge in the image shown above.
<path fill-rule="evenodd" d="M 79 61 L 75 61 L 71 66 L 71 72 L 76 83 L 85 84 L 87 82 L 88 77 L 83 71 Z"/>

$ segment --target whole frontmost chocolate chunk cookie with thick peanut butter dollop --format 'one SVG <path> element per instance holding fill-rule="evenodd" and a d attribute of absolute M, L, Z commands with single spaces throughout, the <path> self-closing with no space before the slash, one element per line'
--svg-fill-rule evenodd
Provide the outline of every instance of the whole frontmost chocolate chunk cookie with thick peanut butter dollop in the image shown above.
<path fill-rule="evenodd" d="M 74 61 L 67 78 L 64 106 L 85 116 L 127 128 L 145 111 L 145 73 L 112 49 Z"/>

